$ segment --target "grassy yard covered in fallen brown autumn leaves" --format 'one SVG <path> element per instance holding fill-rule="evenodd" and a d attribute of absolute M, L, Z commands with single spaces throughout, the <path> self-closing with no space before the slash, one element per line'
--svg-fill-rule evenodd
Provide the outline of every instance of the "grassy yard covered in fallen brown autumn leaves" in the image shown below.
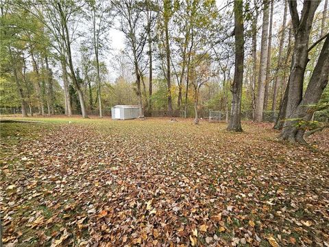
<path fill-rule="evenodd" d="M 8 246 L 328 246 L 329 132 L 42 118 L 1 124 Z M 14 245 L 10 245 L 14 243 Z"/>

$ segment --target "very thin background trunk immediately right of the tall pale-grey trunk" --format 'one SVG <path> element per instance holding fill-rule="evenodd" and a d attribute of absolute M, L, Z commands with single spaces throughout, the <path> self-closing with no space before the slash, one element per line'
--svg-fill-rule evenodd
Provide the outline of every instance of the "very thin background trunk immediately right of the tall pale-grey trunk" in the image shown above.
<path fill-rule="evenodd" d="M 274 8 L 274 1 L 271 1 L 271 14 L 269 15 L 269 44 L 267 47 L 267 63 L 266 63 L 266 77 L 265 77 L 265 98 L 264 98 L 265 110 L 267 110 L 267 103 L 269 100 L 269 85 L 271 82 L 271 45 L 272 45 L 273 8 Z"/>

